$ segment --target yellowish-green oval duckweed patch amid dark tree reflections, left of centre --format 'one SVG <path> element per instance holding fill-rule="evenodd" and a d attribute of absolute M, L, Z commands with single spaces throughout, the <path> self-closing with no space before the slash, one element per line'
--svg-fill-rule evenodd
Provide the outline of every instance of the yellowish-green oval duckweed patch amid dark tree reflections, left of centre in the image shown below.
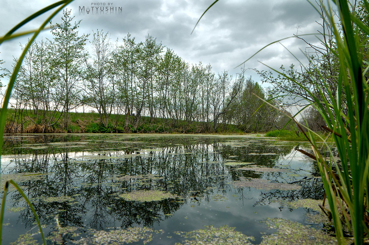
<path fill-rule="evenodd" d="M 135 202 L 153 202 L 169 198 L 171 199 L 179 198 L 179 196 L 177 195 L 171 194 L 169 192 L 162 192 L 161 190 L 135 190 L 128 193 L 123 193 L 118 196 L 127 201 L 135 201 Z"/>

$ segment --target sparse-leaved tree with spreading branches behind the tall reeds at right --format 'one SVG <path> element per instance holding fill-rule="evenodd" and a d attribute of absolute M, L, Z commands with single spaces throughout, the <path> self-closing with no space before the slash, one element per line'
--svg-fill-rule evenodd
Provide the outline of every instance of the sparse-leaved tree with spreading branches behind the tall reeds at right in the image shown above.
<path fill-rule="evenodd" d="M 261 76 L 263 83 L 272 84 L 270 91 L 273 97 L 280 95 L 287 96 L 280 97 L 279 99 L 279 102 L 284 106 L 303 106 L 317 100 L 321 101 L 321 104 L 324 104 L 325 100 L 329 104 L 337 102 L 331 101 L 329 95 L 329 92 L 331 92 L 335 98 L 338 90 L 337 77 L 339 63 L 337 56 L 334 55 L 337 45 L 332 33 L 332 26 L 328 24 L 329 21 L 327 21 L 323 6 L 318 4 L 318 9 L 320 10 L 322 19 L 320 23 L 317 22 L 320 27 L 318 32 L 321 34 L 321 43 L 319 45 L 310 43 L 296 35 L 296 38 L 308 45 L 305 52 L 308 58 L 308 65 L 306 67 L 300 65 L 299 69 L 296 69 L 294 64 L 291 64 L 286 69 L 281 66 L 280 74 L 277 76 L 271 71 L 256 70 Z M 297 85 L 296 82 L 301 86 Z M 328 85 L 330 90 L 320 93 L 321 88 L 325 84 Z M 307 88 L 308 91 L 304 88 Z M 342 100 L 344 98 L 339 98 L 339 101 Z"/>

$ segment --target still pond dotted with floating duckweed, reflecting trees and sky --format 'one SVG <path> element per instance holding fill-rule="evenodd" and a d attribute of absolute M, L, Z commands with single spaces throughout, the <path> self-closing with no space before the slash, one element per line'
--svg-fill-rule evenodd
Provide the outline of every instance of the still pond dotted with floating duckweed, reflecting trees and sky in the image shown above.
<path fill-rule="evenodd" d="M 1 186 L 33 203 L 48 244 L 336 244 L 315 162 L 264 137 L 5 136 Z M 3 187 L 1 187 L 3 188 Z M 4 244 L 41 244 L 12 186 Z M 327 228 L 327 227 L 325 227 Z"/>

